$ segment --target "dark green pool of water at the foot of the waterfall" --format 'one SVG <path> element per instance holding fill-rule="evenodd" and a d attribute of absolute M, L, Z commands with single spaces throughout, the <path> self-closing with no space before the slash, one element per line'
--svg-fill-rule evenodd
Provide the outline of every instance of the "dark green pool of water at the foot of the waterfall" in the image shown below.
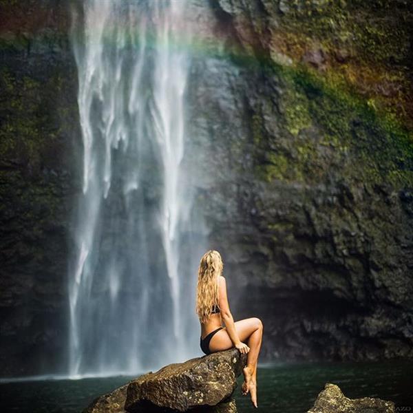
<path fill-rule="evenodd" d="M 96 396 L 131 379 L 133 377 L 0 383 L 1 412 L 81 412 Z M 306 412 L 326 382 L 339 385 L 352 399 L 380 397 L 394 401 L 399 412 L 413 412 L 413 361 L 403 360 L 259 366 L 258 411 Z M 249 399 L 240 394 L 241 383 L 242 377 L 239 377 L 235 390 L 238 410 L 253 411 Z"/>

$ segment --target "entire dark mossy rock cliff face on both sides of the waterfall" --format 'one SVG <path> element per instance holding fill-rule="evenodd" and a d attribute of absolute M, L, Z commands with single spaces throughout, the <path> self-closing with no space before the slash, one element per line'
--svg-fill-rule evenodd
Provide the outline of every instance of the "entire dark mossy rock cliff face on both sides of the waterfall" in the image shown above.
<path fill-rule="evenodd" d="M 81 139 L 63 3 L 0 2 L 4 376 L 64 364 Z M 413 356 L 409 3 L 191 2 L 185 162 L 263 359 Z"/>

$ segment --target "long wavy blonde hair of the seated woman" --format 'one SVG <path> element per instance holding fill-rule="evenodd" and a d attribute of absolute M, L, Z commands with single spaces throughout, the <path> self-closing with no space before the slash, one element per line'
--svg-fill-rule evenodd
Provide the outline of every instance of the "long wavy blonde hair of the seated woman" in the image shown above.
<path fill-rule="evenodd" d="M 223 269 L 224 263 L 218 251 L 209 250 L 202 255 L 196 297 L 196 313 L 202 324 L 208 321 L 212 307 L 218 306 L 218 277 Z"/>

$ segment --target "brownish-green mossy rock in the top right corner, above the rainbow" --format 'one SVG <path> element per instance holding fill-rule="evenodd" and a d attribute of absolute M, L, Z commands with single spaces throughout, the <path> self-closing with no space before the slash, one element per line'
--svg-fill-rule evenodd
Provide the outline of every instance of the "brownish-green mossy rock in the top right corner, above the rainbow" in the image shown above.
<path fill-rule="evenodd" d="M 407 2 L 291 0 L 275 44 L 295 62 L 308 50 L 324 52 L 322 76 L 361 92 L 370 105 L 413 125 L 410 45 L 413 12 Z M 336 59 L 344 52 L 346 61 Z"/>

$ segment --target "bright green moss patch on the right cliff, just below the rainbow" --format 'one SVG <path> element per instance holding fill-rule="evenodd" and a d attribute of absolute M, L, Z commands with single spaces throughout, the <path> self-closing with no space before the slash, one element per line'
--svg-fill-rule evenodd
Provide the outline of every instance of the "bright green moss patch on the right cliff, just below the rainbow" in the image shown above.
<path fill-rule="evenodd" d="M 257 158 L 260 179 L 317 182 L 335 167 L 363 182 L 413 184 L 413 134 L 392 114 L 306 65 L 271 63 L 271 70 L 284 82 L 279 123 L 294 141 L 286 149 L 265 147 L 262 116 L 253 117 L 253 142 L 266 151 Z M 312 134 L 300 134 L 306 128 Z"/>

